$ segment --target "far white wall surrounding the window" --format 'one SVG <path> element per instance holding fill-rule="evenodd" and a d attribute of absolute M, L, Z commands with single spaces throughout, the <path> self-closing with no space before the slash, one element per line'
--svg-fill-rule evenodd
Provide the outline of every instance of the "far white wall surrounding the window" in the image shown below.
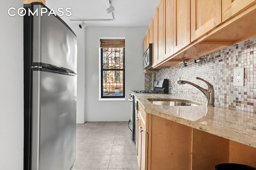
<path fill-rule="evenodd" d="M 142 41 L 147 27 L 85 28 L 86 121 L 128 121 L 130 90 L 144 89 Z M 99 101 L 99 41 L 103 37 L 125 37 L 125 99 Z"/>

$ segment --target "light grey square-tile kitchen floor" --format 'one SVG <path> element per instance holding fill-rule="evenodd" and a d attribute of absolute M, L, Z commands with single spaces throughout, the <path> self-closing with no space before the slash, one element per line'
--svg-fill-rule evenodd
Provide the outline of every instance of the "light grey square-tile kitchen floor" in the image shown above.
<path fill-rule="evenodd" d="M 128 122 L 76 125 L 76 161 L 71 170 L 139 170 Z"/>

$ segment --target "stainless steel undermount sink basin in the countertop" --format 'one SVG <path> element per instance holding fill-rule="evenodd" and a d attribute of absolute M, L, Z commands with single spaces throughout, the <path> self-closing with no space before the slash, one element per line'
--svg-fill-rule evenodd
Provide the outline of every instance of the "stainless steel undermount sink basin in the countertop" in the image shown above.
<path fill-rule="evenodd" d="M 152 104 L 165 105 L 165 106 L 200 106 L 201 104 L 192 102 L 189 100 L 180 99 L 161 99 L 161 98 L 150 98 L 148 99 Z"/>

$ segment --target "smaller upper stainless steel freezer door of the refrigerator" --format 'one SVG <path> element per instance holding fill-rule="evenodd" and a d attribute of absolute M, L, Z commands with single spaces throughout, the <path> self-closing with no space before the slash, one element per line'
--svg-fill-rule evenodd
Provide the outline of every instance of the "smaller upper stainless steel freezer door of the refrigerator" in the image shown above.
<path fill-rule="evenodd" d="M 34 5 L 40 11 L 42 5 Z M 33 63 L 46 63 L 76 72 L 76 35 L 49 12 L 33 17 Z"/>

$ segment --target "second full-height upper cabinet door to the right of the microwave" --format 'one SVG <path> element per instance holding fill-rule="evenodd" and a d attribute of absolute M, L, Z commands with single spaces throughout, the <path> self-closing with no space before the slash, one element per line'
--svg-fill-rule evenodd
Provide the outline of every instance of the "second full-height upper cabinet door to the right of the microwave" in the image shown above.
<path fill-rule="evenodd" d="M 164 60 L 164 0 L 158 5 L 158 58 L 157 63 Z"/>

